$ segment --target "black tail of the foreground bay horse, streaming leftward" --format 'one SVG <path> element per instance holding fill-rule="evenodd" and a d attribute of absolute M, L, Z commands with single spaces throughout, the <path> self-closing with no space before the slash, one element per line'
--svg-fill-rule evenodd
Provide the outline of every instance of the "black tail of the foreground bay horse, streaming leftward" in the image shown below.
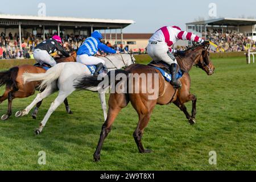
<path fill-rule="evenodd" d="M 114 74 L 113 74 L 114 73 Z M 111 76 L 114 76 L 114 78 L 119 74 L 119 73 L 123 73 L 125 74 L 127 77 L 129 76 L 129 72 L 128 71 L 124 71 L 122 69 L 117 69 L 117 70 L 113 70 L 108 72 L 108 74 L 105 76 L 108 77 L 108 79 L 104 78 L 105 80 L 108 80 L 108 83 L 106 83 L 108 86 L 110 86 L 111 84 L 113 84 L 112 82 L 114 81 L 115 84 L 119 81 L 115 81 L 115 79 L 111 79 Z M 113 75 L 112 75 L 113 74 Z M 99 86 L 99 84 L 102 82 L 102 80 L 98 80 L 97 77 L 95 76 L 91 76 L 91 75 L 84 75 L 81 78 L 77 78 L 75 84 L 73 85 L 76 89 L 84 89 L 87 90 L 89 88 L 93 88 L 93 87 L 97 87 Z M 104 84 L 105 85 L 105 84 Z"/>

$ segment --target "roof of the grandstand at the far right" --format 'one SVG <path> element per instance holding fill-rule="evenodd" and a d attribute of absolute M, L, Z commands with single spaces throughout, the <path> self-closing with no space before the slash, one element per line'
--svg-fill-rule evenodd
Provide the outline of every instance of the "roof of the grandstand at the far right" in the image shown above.
<path fill-rule="evenodd" d="M 186 23 L 187 25 L 196 24 L 208 24 L 210 26 L 252 26 L 256 24 L 256 19 L 245 19 L 245 18 L 218 18 L 202 20 L 199 22 Z"/>

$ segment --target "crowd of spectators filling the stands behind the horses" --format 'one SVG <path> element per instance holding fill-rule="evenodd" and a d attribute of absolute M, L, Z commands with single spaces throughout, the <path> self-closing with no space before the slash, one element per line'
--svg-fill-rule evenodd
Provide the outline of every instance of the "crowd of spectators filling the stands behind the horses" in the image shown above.
<path fill-rule="evenodd" d="M 204 34 L 205 33 L 203 32 L 203 36 Z M 52 35 L 54 34 L 45 34 L 44 36 L 46 39 L 49 39 Z M 73 34 L 65 36 L 61 34 L 60 36 L 63 38 L 64 48 L 66 48 L 67 51 L 70 51 L 71 49 L 77 50 L 86 38 L 82 35 L 75 36 Z M 30 58 L 36 45 L 43 41 L 42 37 L 42 35 L 35 36 L 27 33 L 26 36 L 22 36 L 22 49 L 20 49 L 20 41 L 17 34 L 13 35 L 10 32 L 9 35 L 5 35 L 5 33 L 2 32 L 0 35 L 0 59 Z M 252 49 L 256 49 L 256 44 L 253 40 L 250 40 L 247 36 L 238 32 L 226 31 L 222 33 L 221 30 L 207 31 L 207 40 L 210 40 L 218 46 L 217 49 L 211 49 L 212 52 L 216 52 L 220 49 L 225 52 L 246 51 L 248 45 L 251 45 Z M 106 45 L 120 52 L 129 51 L 133 53 L 146 53 L 146 49 L 144 48 L 129 49 L 129 46 L 123 47 L 122 44 L 115 44 L 112 46 L 109 42 L 106 42 Z M 176 49 L 185 49 L 185 47 L 177 47 Z"/>

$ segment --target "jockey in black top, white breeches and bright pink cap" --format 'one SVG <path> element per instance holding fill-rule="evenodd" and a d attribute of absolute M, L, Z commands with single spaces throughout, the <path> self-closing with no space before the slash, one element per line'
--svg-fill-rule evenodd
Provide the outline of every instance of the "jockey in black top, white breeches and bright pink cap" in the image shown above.
<path fill-rule="evenodd" d="M 46 63 L 53 67 L 56 65 L 56 61 L 50 54 L 56 51 L 60 51 L 63 56 L 69 57 L 68 52 L 62 47 L 61 38 L 54 35 L 51 39 L 44 40 L 35 47 L 35 51 L 33 52 L 34 59 L 40 64 Z"/>

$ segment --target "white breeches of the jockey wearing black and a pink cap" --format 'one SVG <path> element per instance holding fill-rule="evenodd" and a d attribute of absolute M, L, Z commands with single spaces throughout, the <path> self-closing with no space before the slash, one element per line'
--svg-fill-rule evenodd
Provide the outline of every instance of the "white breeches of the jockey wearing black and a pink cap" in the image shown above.
<path fill-rule="evenodd" d="M 35 51 L 33 52 L 33 55 L 34 55 L 35 60 L 38 61 L 38 63 L 40 63 L 40 64 L 46 63 L 46 64 L 51 65 L 52 67 L 54 65 L 56 65 L 56 61 L 45 50 L 35 49 Z"/>

